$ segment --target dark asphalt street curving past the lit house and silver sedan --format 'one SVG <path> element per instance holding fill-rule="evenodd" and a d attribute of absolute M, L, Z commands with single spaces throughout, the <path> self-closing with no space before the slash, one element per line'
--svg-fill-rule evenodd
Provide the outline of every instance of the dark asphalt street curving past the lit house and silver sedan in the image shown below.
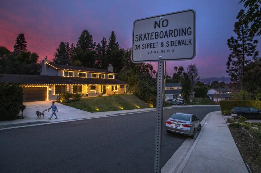
<path fill-rule="evenodd" d="M 164 110 L 201 120 L 220 107 Z M 59 115 L 58 115 L 59 117 Z M 153 172 L 156 111 L 0 130 L 0 170 L 5 172 Z M 162 166 L 186 136 L 163 126 Z"/>

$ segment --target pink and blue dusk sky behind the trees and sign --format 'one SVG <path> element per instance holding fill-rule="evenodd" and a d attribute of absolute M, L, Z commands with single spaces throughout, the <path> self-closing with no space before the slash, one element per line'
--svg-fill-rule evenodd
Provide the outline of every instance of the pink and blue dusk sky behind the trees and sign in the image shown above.
<path fill-rule="evenodd" d="M 38 53 L 39 60 L 46 55 L 52 59 L 60 42 L 76 44 L 81 32 L 88 30 L 96 43 L 103 37 L 108 41 L 114 31 L 120 47 L 130 48 L 134 20 L 194 9 L 196 57 L 191 61 L 168 61 L 167 72 L 172 75 L 174 66 L 186 68 L 195 63 L 201 78 L 228 77 L 227 39 L 236 36 L 234 23 L 243 8 L 239 1 L 1 1 L 0 45 L 13 51 L 17 35 L 24 33 L 28 50 Z M 257 50 L 260 52 L 261 43 Z"/>

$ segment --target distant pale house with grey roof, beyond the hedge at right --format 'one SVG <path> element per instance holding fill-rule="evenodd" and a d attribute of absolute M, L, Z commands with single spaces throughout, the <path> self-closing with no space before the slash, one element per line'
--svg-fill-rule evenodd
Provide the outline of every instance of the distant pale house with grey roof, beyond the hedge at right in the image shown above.
<path fill-rule="evenodd" d="M 232 90 L 226 88 L 215 88 L 209 89 L 207 96 L 215 102 L 219 102 L 220 100 L 229 100 L 231 98 Z"/>

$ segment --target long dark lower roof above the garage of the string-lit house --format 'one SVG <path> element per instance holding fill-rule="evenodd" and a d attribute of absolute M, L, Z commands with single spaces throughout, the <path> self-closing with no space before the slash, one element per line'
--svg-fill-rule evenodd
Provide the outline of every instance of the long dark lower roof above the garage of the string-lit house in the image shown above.
<path fill-rule="evenodd" d="M 21 84 L 104 84 L 104 85 L 127 85 L 118 79 L 80 78 L 45 75 L 14 75 L 0 74 L 0 82 L 14 82 Z"/>

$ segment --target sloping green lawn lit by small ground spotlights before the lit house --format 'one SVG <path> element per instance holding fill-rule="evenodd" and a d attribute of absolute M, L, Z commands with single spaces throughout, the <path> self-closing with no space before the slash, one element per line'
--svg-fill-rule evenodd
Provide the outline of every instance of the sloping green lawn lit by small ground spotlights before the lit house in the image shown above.
<path fill-rule="evenodd" d="M 101 97 L 82 98 L 80 101 L 62 103 L 88 112 L 121 111 L 150 108 L 133 94 L 115 94 Z"/>

